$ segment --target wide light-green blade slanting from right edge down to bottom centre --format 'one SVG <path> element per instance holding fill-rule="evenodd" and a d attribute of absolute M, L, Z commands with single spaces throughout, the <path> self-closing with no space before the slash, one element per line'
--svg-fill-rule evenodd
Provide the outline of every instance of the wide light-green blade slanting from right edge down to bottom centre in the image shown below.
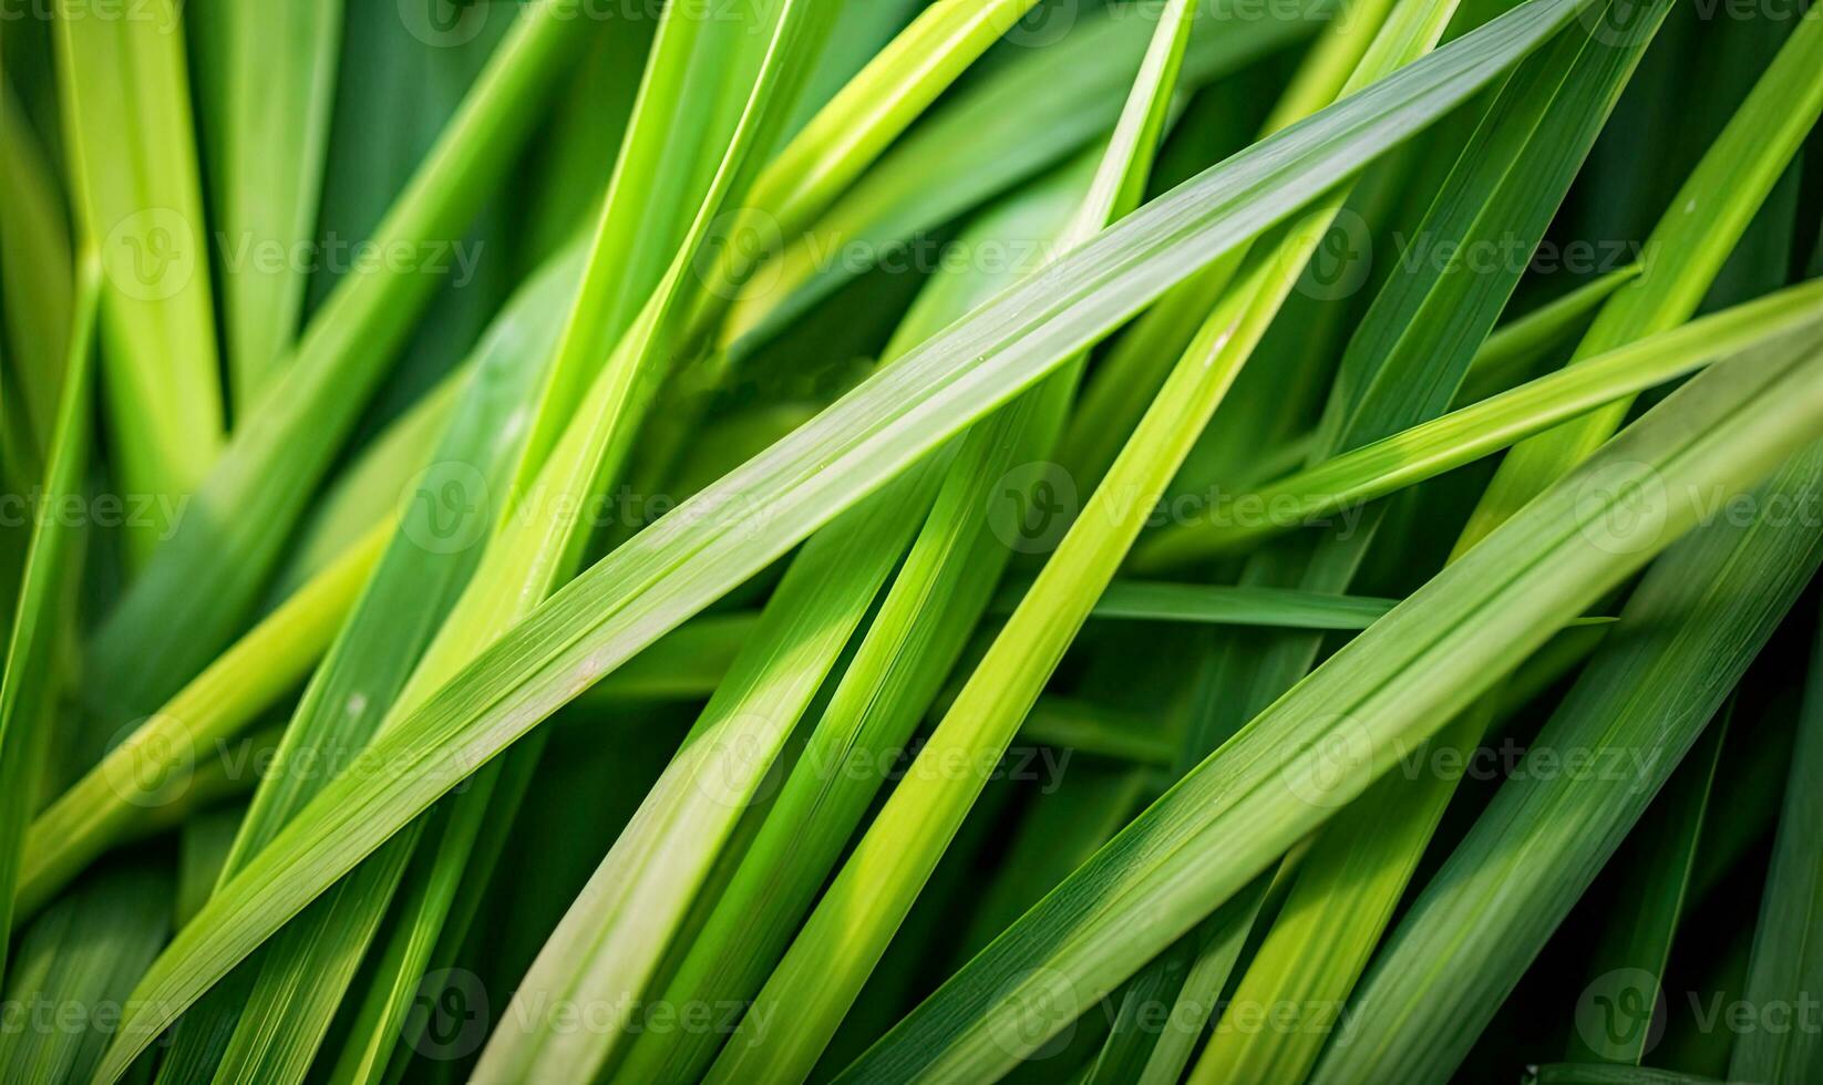
<path fill-rule="evenodd" d="M 1688 531 L 1706 509 L 1697 494 L 1745 489 L 1807 443 L 1823 408 L 1790 398 L 1823 385 L 1819 348 L 1785 345 L 1692 381 L 1331 656 L 846 1074 L 1014 1065 Z M 1663 518 L 1621 531 L 1601 520 L 1621 500 L 1601 480 L 1630 463 L 1661 472 L 1670 496 Z"/>

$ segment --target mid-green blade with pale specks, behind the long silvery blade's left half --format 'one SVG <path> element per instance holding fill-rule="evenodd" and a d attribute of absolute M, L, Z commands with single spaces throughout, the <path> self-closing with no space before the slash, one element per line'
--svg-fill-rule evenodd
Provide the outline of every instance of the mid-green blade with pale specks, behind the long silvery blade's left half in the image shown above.
<path fill-rule="evenodd" d="M 399 711 L 396 702 L 410 697 L 439 622 L 476 571 L 489 525 L 505 511 L 523 443 L 523 430 L 510 419 L 530 408 L 543 377 L 543 368 L 527 359 L 551 357 L 580 277 L 580 248 L 554 257 L 478 346 L 434 463 L 412 481 L 397 532 L 314 673 L 284 731 L 275 771 L 253 795 L 228 875 L 317 793 L 328 779 L 321 766 L 350 764 Z M 401 842 L 365 864 L 294 921 L 257 963 L 237 972 L 235 985 L 244 987 L 191 1010 L 173 1054 L 186 1074 L 219 1063 L 215 1074 L 224 1081 L 301 1078 L 408 857 L 410 846 Z M 228 1030 L 226 1021 L 235 1018 L 239 1023 Z M 226 1043 L 204 1050 L 217 1038 Z"/>

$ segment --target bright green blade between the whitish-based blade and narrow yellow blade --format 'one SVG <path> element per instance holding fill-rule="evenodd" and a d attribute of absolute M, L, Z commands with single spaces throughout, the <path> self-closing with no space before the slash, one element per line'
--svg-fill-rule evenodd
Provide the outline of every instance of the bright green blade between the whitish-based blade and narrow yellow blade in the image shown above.
<path fill-rule="evenodd" d="M 1028 186 L 983 213 L 964 243 L 1056 239 L 1081 212 L 1088 182 L 1087 168 L 1072 168 Z M 1012 270 L 981 268 L 937 275 L 888 350 L 959 319 L 1014 277 Z M 979 454 L 973 432 L 959 445 L 935 505 L 928 494 L 919 507 L 902 501 L 901 516 L 908 520 L 928 511 L 912 553 L 780 784 L 766 822 L 667 981 L 664 1001 L 747 1001 L 758 992 L 881 784 L 871 773 L 831 773 L 828 766 L 855 749 L 902 746 L 961 653 L 1006 553 L 981 523 L 981 487 L 995 474 L 970 470 Z M 665 1045 L 647 1039 L 633 1047 L 620 1072 L 629 1080 L 700 1078 L 720 1039 L 700 1036 Z"/>

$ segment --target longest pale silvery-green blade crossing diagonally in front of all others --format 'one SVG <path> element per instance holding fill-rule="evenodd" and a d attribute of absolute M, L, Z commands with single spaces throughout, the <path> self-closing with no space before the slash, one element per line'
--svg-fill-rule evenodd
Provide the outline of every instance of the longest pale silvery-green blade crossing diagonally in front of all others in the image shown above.
<path fill-rule="evenodd" d="M 124 1070 L 224 966 L 472 766 L 798 540 L 1105 336 L 1172 283 L 1447 111 L 1577 11 L 1531 0 L 1426 62 L 1285 129 L 1015 284 L 644 531 L 381 735 L 173 941 L 146 976 L 104 1078 Z M 1017 315 L 1015 315 L 1017 314 Z M 751 505 L 747 501 L 753 501 Z M 767 509 L 729 522 L 731 509 Z M 713 571 L 713 573 L 711 573 Z M 651 591 L 658 589 L 658 591 Z M 603 594 L 605 593 L 605 594 Z M 605 600 L 620 600 L 609 607 Z M 527 646 L 536 649 L 527 651 Z M 430 753 L 438 768 L 421 760 Z M 273 879 L 273 870 L 286 870 Z M 211 946 L 201 952 L 204 946 Z M 213 961 L 213 963 L 210 963 Z"/>

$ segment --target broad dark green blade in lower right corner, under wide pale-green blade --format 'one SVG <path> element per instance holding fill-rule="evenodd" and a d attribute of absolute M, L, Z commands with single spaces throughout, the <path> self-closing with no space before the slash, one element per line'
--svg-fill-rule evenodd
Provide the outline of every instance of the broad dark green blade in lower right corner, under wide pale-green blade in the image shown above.
<path fill-rule="evenodd" d="M 1697 379 L 1690 392 L 1701 394 L 1708 383 Z M 1608 458 L 1597 454 L 1588 469 L 1601 470 Z M 1551 492 L 1575 487 L 1579 478 L 1595 480 L 1588 469 Z M 1677 485 L 1672 476 L 1663 481 Z M 1752 507 L 1816 500 L 1819 485 L 1823 452 L 1812 449 L 1756 491 Z M 1499 534 L 1457 567 L 1493 538 Z M 1652 569 L 1608 646 L 1533 744 L 1539 757 L 1577 749 L 1630 749 L 1637 757 L 1602 786 L 1528 771 L 1500 788 L 1362 979 L 1347 1043 L 1338 1038 L 1325 1052 L 1318 1081 L 1449 1076 L 1710 722 L 1819 558 L 1814 527 L 1777 516 L 1721 518 Z M 1637 629 L 1653 633 L 1630 633 Z M 1524 875 L 1515 877 L 1520 857 Z"/>

